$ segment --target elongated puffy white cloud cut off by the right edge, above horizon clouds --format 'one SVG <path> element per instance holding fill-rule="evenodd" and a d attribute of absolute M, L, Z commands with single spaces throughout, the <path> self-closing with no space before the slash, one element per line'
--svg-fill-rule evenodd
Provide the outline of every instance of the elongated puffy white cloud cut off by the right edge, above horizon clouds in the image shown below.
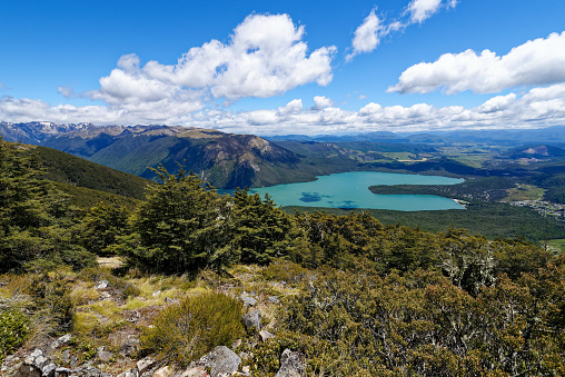
<path fill-rule="evenodd" d="M 443 88 L 448 95 L 466 90 L 490 93 L 564 81 L 565 31 L 527 41 L 502 57 L 489 50 L 443 54 L 435 62 L 409 67 L 387 91 L 427 93 Z"/>

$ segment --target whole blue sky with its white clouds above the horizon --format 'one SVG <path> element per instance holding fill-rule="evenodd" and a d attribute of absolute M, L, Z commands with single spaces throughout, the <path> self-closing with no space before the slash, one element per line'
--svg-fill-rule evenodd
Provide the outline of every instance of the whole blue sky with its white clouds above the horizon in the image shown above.
<path fill-rule="evenodd" d="M 0 0 L 0 121 L 565 125 L 565 1 Z"/>

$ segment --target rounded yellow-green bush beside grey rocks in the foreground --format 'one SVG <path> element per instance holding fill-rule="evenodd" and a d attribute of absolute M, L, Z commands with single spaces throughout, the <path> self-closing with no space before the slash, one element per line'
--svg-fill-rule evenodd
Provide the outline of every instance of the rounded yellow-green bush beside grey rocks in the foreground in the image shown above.
<path fill-rule="evenodd" d="M 242 304 L 220 292 L 190 296 L 165 307 L 141 337 L 147 353 L 187 366 L 216 346 L 230 346 L 244 335 Z"/>

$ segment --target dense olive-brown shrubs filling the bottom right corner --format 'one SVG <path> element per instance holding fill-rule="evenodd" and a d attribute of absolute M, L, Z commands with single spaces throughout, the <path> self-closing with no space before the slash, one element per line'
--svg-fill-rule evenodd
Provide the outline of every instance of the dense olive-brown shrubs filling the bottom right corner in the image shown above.
<path fill-rule="evenodd" d="M 338 349 L 338 376 L 562 375 L 564 272 L 562 258 L 473 297 L 436 272 L 324 269 L 279 317 L 282 329 Z"/>

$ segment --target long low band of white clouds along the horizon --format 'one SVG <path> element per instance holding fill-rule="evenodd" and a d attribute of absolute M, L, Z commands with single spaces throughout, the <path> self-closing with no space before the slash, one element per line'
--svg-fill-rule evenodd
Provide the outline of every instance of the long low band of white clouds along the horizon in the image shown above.
<path fill-rule="evenodd" d="M 294 99 L 277 109 L 232 112 L 168 99 L 122 106 L 51 107 L 41 100 L 4 96 L 0 98 L 0 119 L 12 122 L 48 120 L 57 123 L 184 125 L 256 135 L 517 129 L 565 123 L 565 83 L 534 88 L 525 93 L 495 96 L 475 108 L 436 108 L 428 103 L 384 107 L 370 102 L 358 111 L 349 111 L 329 106 L 331 100 L 326 97 L 319 96 L 315 101 L 319 106 L 306 109 L 300 99 Z"/>

